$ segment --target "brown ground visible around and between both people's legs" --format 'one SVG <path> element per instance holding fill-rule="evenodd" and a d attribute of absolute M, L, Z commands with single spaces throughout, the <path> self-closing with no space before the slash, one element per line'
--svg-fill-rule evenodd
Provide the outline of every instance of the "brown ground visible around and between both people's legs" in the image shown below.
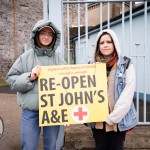
<path fill-rule="evenodd" d="M 0 150 L 21 150 L 20 127 L 21 108 L 17 105 L 16 94 L 0 90 L 0 117 L 4 121 L 4 135 L 0 139 Z M 89 128 L 70 126 L 65 128 L 66 150 L 93 150 L 94 141 Z M 137 126 L 127 135 L 126 149 L 150 150 L 150 126 Z M 40 139 L 39 150 L 42 150 Z"/>

